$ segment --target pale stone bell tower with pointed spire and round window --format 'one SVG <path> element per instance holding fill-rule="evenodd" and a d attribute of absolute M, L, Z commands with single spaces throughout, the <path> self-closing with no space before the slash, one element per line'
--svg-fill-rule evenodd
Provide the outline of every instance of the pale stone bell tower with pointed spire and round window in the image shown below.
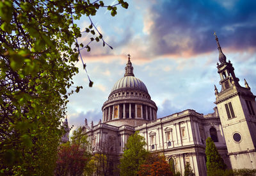
<path fill-rule="evenodd" d="M 221 91 L 214 86 L 221 126 L 227 144 L 232 168 L 256 168 L 256 103 L 255 95 L 244 79 L 240 86 L 232 63 L 223 54 L 218 37 L 215 35 L 219 51 L 217 63 L 220 74 Z"/>

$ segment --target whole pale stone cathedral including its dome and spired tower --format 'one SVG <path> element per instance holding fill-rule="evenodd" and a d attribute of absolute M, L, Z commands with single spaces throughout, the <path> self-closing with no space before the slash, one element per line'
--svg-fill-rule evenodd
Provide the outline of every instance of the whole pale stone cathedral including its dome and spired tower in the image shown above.
<path fill-rule="evenodd" d="M 129 56 L 124 77 L 111 90 L 102 106 L 99 124 L 84 124 L 84 133 L 93 152 L 108 144 L 116 158 L 122 157 L 131 134 L 140 131 L 145 148 L 163 154 L 176 172 L 184 173 L 188 162 L 195 175 L 206 175 L 205 140 L 211 137 L 228 168 L 256 168 L 256 103 L 255 95 L 244 79 L 239 84 L 234 67 L 219 51 L 217 72 L 221 90 L 215 88 L 214 113 L 203 115 L 193 109 L 157 117 L 157 105 L 147 86 L 134 76 Z M 213 85 L 212 85 L 213 86 Z"/>

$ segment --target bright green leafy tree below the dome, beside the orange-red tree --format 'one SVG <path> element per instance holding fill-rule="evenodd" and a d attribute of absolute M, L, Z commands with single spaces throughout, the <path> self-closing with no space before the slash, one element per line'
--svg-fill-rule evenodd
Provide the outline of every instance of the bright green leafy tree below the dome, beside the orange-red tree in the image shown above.
<path fill-rule="evenodd" d="M 122 159 L 120 159 L 120 175 L 137 175 L 139 167 L 145 162 L 148 155 L 144 146 L 146 145 L 143 136 L 136 131 L 125 144 L 125 150 Z"/>

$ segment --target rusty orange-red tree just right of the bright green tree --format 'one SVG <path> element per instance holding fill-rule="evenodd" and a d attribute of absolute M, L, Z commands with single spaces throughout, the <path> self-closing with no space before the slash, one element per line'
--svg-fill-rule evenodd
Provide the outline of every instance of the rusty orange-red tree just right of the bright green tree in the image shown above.
<path fill-rule="evenodd" d="M 149 154 L 145 163 L 140 165 L 139 176 L 172 176 L 169 164 L 164 156 Z"/>

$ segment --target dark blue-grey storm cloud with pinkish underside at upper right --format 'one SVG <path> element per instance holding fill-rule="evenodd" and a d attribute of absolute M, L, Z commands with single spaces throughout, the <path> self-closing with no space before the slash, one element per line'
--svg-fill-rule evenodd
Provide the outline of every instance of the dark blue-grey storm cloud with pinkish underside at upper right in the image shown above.
<path fill-rule="evenodd" d="M 256 46 L 256 1 L 163 1 L 149 11 L 155 54 L 193 54 L 216 49 L 213 32 L 221 47 L 247 49 Z M 230 3 L 230 4 L 227 4 Z M 186 42 L 186 43 L 185 43 Z"/>

